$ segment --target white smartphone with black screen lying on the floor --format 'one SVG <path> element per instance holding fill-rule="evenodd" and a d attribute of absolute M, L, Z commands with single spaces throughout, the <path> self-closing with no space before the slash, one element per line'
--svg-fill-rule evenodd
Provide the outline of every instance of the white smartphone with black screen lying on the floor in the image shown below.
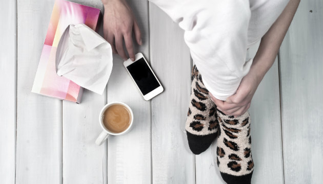
<path fill-rule="evenodd" d="M 145 100 L 150 100 L 163 92 L 163 86 L 142 53 L 135 55 L 135 61 L 131 59 L 125 61 L 124 66 Z"/>

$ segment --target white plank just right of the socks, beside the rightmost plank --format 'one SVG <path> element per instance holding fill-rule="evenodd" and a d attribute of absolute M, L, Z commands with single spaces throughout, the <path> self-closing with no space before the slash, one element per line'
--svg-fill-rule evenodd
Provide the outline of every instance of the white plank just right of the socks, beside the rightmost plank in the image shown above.
<path fill-rule="evenodd" d="M 250 48 L 251 58 L 257 49 L 258 44 Z M 249 113 L 255 164 L 252 183 L 284 183 L 277 58 L 260 82 Z"/>

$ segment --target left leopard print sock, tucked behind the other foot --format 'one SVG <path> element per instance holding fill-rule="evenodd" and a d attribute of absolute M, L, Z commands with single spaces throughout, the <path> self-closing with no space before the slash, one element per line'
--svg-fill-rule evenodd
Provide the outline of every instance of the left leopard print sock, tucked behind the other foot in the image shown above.
<path fill-rule="evenodd" d="M 191 73 L 191 96 L 186 119 L 188 144 L 194 154 L 207 150 L 217 137 L 216 106 L 194 65 Z"/>

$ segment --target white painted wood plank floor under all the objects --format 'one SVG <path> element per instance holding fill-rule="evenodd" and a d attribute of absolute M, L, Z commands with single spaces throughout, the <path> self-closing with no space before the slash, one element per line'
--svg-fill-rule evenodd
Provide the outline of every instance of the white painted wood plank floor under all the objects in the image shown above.
<path fill-rule="evenodd" d="M 103 10 L 100 0 L 74 2 Z M 85 90 L 74 104 L 31 93 L 54 0 L 0 2 L 0 183 L 224 183 L 216 141 L 196 156 L 188 147 L 192 61 L 183 31 L 147 0 L 129 3 L 143 33 L 136 51 L 164 93 L 145 101 L 115 56 L 105 95 Z M 252 183 L 323 183 L 322 19 L 321 0 L 301 1 L 252 100 Z M 111 101 L 131 106 L 134 127 L 96 146 L 98 113 Z"/>

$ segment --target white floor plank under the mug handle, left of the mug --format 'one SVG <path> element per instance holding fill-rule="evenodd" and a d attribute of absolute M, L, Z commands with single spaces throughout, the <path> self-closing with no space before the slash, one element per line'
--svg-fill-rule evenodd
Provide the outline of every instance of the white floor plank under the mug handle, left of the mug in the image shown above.
<path fill-rule="evenodd" d="M 103 8 L 100 0 L 72 2 Z M 94 143 L 102 131 L 98 117 L 106 94 L 84 89 L 80 104 L 63 101 L 63 183 L 107 183 L 107 145 Z"/>

